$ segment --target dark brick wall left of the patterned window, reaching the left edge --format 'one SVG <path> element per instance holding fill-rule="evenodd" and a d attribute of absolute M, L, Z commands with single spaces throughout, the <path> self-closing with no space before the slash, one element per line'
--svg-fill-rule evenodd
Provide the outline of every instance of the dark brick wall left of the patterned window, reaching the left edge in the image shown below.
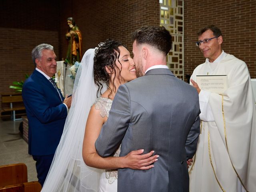
<path fill-rule="evenodd" d="M 26 73 L 32 73 L 34 46 L 52 44 L 58 60 L 66 58 L 66 20 L 70 16 L 82 32 L 83 54 L 107 38 L 120 40 L 132 50 L 129 34 L 140 26 L 159 24 L 159 3 L 155 0 L 2 0 L 0 93 L 14 92 L 8 88 L 12 82 L 24 80 Z"/>

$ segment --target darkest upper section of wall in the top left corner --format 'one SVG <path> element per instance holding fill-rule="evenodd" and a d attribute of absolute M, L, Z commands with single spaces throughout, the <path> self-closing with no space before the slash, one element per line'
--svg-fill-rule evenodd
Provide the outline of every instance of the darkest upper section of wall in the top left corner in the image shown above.
<path fill-rule="evenodd" d="M 60 0 L 1 0 L 1 27 L 59 30 Z"/>

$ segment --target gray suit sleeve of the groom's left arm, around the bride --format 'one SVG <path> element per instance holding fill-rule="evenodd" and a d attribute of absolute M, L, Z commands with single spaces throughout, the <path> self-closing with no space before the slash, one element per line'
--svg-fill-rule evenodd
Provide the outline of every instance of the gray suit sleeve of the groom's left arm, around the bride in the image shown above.
<path fill-rule="evenodd" d="M 115 95 L 108 120 L 103 125 L 95 142 L 95 148 L 102 157 L 111 156 L 120 146 L 130 123 L 130 95 L 128 88 L 121 85 Z"/>

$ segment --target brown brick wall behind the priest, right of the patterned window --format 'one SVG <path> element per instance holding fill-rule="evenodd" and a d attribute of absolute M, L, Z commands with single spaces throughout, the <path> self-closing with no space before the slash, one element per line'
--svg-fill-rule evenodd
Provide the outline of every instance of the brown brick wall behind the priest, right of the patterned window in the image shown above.
<path fill-rule="evenodd" d="M 222 30 L 222 49 L 246 62 L 251 78 L 256 78 L 255 0 L 184 0 L 185 74 L 205 61 L 195 42 L 198 30 L 209 24 Z"/>

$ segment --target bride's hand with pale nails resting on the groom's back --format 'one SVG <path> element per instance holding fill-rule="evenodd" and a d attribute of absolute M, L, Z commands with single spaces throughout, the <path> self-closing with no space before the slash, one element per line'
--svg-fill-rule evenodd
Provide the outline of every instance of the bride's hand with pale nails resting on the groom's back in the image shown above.
<path fill-rule="evenodd" d="M 154 151 L 150 151 L 147 154 L 143 154 L 143 149 L 131 151 L 126 156 L 121 157 L 123 160 L 123 168 L 131 168 L 131 169 L 140 169 L 147 170 L 154 167 L 154 162 L 156 162 L 159 155 L 154 155 Z"/>

